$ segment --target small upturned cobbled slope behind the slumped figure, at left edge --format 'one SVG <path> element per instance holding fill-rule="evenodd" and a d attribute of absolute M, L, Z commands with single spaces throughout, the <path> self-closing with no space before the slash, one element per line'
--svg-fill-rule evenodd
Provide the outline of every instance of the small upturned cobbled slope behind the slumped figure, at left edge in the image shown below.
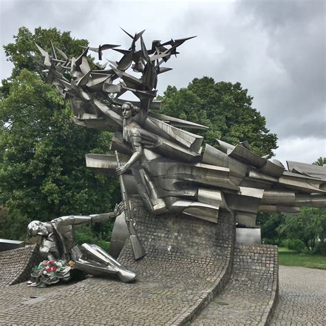
<path fill-rule="evenodd" d="M 32 268 L 39 261 L 37 245 L 0 252 L 0 286 L 28 281 Z"/>

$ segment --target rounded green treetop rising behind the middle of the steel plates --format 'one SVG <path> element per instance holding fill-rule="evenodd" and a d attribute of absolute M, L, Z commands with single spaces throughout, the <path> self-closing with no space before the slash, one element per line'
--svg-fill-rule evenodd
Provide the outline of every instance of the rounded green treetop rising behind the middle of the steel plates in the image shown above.
<path fill-rule="evenodd" d="M 248 140 L 259 155 L 272 154 L 277 148 L 276 135 L 265 127 L 265 118 L 252 108 L 252 97 L 240 83 L 195 78 L 186 88 L 168 86 L 160 99 L 163 113 L 210 127 L 199 133 L 213 146 L 217 138 L 230 144 Z"/>

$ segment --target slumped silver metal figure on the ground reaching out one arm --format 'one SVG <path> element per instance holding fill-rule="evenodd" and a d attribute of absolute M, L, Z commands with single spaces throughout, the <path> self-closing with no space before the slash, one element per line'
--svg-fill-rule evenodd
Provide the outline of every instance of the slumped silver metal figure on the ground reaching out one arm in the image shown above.
<path fill-rule="evenodd" d="M 136 274 L 124 268 L 105 250 L 94 245 L 83 243 L 78 246 L 74 226 L 98 223 L 117 217 L 124 210 L 120 203 L 112 213 L 88 216 L 63 216 L 49 222 L 32 221 L 28 224 L 28 235 L 41 235 L 40 253 L 43 259 L 74 261 L 74 268 L 87 274 L 101 276 L 117 274 L 122 282 L 131 282 Z"/>

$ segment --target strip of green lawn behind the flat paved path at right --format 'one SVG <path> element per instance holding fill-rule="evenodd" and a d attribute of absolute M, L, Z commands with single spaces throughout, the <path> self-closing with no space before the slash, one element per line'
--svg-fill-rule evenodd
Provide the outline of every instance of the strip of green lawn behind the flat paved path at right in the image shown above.
<path fill-rule="evenodd" d="M 279 264 L 326 270 L 326 257 L 318 254 L 298 254 L 294 250 L 279 247 Z"/>

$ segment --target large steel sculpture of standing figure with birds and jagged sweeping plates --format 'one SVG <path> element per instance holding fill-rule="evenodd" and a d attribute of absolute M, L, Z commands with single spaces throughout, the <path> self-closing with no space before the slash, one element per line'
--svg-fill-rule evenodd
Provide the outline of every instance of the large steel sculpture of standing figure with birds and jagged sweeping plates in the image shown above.
<path fill-rule="evenodd" d="M 123 165 L 116 155 L 88 154 L 87 166 L 118 173 L 126 197 L 142 198 L 155 214 L 179 212 L 217 223 L 224 208 L 238 224 L 255 226 L 259 211 L 296 213 L 300 206 L 326 206 L 324 167 L 287 162 L 286 170 L 281 162 L 253 153 L 248 142 L 233 146 L 216 140 L 215 147 L 206 144 L 203 149 L 202 136 L 182 128 L 207 127 L 154 113 L 162 105 L 154 100 L 157 76 L 171 69 L 161 65 L 191 37 L 153 41 L 148 48 L 143 32 L 126 32 L 131 37 L 128 50 L 105 44 L 85 48 L 78 58 L 69 58 L 53 44 L 50 54 L 38 46 L 45 58 L 45 80 L 70 100 L 74 122 L 114 133 L 111 150 L 122 154 Z M 120 52 L 120 61 L 91 69 L 88 52 L 98 52 L 102 59 L 105 50 Z M 123 100 L 127 91 L 138 101 Z"/>

